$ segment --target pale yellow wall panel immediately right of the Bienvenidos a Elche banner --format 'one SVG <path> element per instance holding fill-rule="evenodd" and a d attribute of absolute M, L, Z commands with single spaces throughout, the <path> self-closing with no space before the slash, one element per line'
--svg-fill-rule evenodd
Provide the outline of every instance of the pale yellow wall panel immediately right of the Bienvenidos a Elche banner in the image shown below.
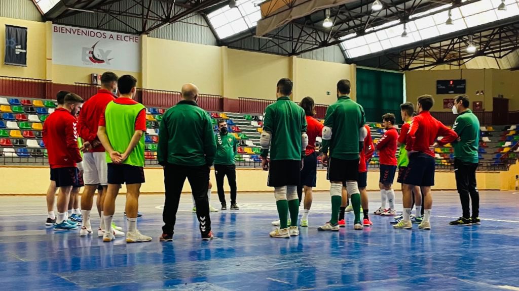
<path fill-rule="evenodd" d="M 222 94 L 219 47 L 148 37 L 146 59 L 149 89 L 180 91 L 183 84 L 194 83 L 200 93 Z"/>

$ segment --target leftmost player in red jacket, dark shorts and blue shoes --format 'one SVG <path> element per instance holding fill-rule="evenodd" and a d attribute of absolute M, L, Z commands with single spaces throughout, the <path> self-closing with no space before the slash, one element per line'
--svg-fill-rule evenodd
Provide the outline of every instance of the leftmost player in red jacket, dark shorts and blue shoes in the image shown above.
<path fill-rule="evenodd" d="M 54 230 L 77 229 L 77 225 L 66 219 L 72 187 L 77 184 L 77 163 L 81 154 L 77 146 L 77 120 L 74 117 L 83 104 L 83 99 L 69 93 L 61 108 L 52 112 L 43 125 L 43 142 L 48 152 L 50 180 L 56 183 L 58 193 L 58 215 Z"/>

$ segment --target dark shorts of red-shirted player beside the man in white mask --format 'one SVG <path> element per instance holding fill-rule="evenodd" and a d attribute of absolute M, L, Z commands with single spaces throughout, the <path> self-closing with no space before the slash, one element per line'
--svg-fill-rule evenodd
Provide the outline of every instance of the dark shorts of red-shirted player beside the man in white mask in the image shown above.
<path fill-rule="evenodd" d="M 409 156 L 404 183 L 415 186 L 433 186 L 434 168 L 435 161 L 432 156 L 425 153 L 413 153 Z"/>

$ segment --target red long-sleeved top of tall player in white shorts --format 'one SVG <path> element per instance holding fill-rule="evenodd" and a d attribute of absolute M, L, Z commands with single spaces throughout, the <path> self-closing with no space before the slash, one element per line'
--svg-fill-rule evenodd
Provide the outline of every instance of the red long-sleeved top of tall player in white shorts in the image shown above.
<path fill-rule="evenodd" d="M 78 121 L 79 136 L 83 141 L 92 143 L 92 141 L 97 138 L 99 120 L 101 119 L 101 115 L 104 114 L 106 105 L 112 100 L 115 100 L 115 96 L 112 92 L 100 89 L 97 94 L 93 95 L 83 104 L 81 111 L 79 111 Z M 102 153 L 104 152 L 104 148 L 100 145 L 92 149 L 92 152 Z"/>

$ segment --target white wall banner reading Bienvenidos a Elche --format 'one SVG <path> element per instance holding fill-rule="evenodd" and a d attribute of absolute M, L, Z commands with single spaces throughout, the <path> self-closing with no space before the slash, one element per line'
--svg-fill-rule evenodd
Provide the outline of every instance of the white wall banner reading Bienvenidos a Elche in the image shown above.
<path fill-rule="evenodd" d="M 141 37 L 52 25 L 52 63 L 122 71 L 141 71 Z"/>

